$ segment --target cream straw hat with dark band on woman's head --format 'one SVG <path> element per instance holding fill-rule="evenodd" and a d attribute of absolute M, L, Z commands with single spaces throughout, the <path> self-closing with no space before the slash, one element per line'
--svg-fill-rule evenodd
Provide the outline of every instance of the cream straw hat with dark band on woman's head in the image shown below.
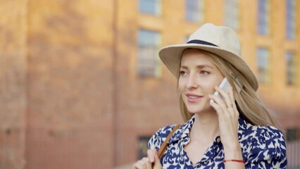
<path fill-rule="evenodd" d="M 189 36 L 187 44 L 163 47 L 159 51 L 159 57 L 175 77 L 179 77 L 182 52 L 187 48 L 210 51 L 224 58 L 246 77 L 254 91 L 258 89 L 256 76 L 241 57 L 239 38 L 230 27 L 206 23 Z"/>

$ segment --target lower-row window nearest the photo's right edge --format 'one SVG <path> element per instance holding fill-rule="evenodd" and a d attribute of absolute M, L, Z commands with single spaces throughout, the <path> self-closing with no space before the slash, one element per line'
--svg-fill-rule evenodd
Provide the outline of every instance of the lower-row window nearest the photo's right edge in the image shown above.
<path fill-rule="evenodd" d="M 287 51 L 285 53 L 285 61 L 287 63 L 287 84 L 296 83 L 296 63 L 294 52 Z"/>

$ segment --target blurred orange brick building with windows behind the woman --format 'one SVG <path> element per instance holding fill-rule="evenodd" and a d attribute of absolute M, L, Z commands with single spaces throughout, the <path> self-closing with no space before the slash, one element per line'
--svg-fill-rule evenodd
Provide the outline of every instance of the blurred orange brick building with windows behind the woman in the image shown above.
<path fill-rule="evenodd" d="M 300 168 L 299 0 L 0 0 L 0 168 L 131 168 L 183 123 L 162 46 L 232 27 Z"/>

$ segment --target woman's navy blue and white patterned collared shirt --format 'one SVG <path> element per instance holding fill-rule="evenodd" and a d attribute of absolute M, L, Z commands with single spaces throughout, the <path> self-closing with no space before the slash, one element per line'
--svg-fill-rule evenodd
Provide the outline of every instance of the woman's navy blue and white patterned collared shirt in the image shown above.
<path fill-rule="evenodd" d="M 193 164 L 189 160 L 184 146 L 190 141 L 189 131 L 193 123 L 194 117 L 177 129 L 170 138 L 161 158 L 163 168 L 225 168 L 224 149 L 219 136 L 198 163 Z M 158 150 L 173 127 L 175 125 L 158 130 L 149 140 L 149 149 Z M 280 130 L 272 126 L 251 125 L 239 118 L 238 134 L 246 168 L 287 168 L 285 139 Z"/>

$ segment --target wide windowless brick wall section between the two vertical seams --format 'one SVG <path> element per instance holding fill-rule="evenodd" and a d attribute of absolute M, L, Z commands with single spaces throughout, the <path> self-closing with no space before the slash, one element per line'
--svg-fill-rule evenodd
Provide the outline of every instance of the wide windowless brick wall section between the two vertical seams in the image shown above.
<path fill-rule="evenodd" d="M 29 1 L 25 168 L 112 167 L 111 15 L 112 1 Z"/>

